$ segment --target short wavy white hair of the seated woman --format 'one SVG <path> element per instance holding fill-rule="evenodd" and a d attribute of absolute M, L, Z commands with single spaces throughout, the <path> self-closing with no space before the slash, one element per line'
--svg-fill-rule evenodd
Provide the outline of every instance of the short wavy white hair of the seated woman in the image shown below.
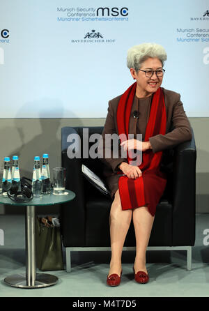
<path fill-rule="evenodd" d="M 127 67 L 134 68 L 138 72 L 142 63 L 149 57 L 157 57 L 161 61 L 162 66 L 164 66 L 164 61 L 167 60 L 167 52 L 162 45 L 157 43 L 134 45 L 127 51 Z"/>

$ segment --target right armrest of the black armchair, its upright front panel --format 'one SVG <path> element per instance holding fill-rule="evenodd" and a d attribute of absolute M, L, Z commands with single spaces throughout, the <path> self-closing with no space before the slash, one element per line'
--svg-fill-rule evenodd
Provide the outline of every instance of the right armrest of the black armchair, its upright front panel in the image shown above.
<path fill-rule="evenodd" d="M 195 195 L 196 146 L 192 130 L 192 140 L 179 144 L 174 149 L 173 245 L 194 245 Z M 184 236 L 180 232 L 184 232 Z"/>

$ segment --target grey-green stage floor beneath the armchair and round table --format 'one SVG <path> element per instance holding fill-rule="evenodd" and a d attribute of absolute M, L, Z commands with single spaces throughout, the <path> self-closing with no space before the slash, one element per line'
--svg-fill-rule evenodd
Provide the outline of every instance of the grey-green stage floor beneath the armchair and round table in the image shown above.
<path fill-rule="evenodd" d="M 25 272 L 24 215 L 0 215 L 4 245 L 0 245 L 0 297 L 208 297 L 209 214 L 196 214 L 196 243 L 192 248 L 192 271 L 186 270 L 185 251 L 148 251 L 150 281 L 134 281 L 134 252 L 123 252 L 123 275 L 119 287 L 106 285 L 110 252 L 72 252 L 72 271 L 47 271 L 59 281 L 52 287 L 20 289 L 3 282 L 8 275 Z M 208 238 L 209 241 L 209 238 Z M 65 251 L 64 251 L 65 252 Z M 65 254 L 64 254 L 65 258 Z M 40 272 L 40 271 L 38 271 Z"/>

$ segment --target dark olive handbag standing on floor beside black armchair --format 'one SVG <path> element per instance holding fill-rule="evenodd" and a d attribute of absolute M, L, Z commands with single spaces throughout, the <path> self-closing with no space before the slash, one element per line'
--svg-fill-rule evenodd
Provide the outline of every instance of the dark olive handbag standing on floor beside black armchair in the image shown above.
<path fill-rule="evenodd" d="M 63 270 L 60 227 L 49 218 L 36 218 L 36 266 L 40 271 Z"/>

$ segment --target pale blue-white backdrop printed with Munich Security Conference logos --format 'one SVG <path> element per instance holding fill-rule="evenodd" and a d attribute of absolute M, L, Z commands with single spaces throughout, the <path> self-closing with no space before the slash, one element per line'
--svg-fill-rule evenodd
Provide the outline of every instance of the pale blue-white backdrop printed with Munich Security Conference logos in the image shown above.
<path fill-rule="evenodd" d="M 105 117 L 133 83 L 127 50 L 144 42 L 167 50 L 162 86 L 181 94 L 187 116 L 209 116 L 208 0 L 0 5 L 1 118 Z"/>

